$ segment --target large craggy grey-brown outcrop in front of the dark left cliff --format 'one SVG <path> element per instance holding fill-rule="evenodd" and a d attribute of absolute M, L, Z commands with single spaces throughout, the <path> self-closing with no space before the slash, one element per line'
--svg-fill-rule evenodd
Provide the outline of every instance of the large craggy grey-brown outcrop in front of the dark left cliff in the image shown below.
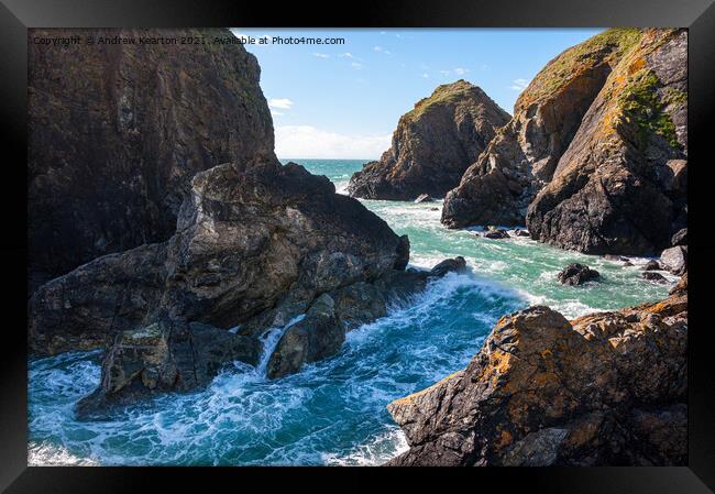
<path fill-rule="evenodd" d="M 191 184 L 168 241 L 108 254 L 37 289 L 31 351 L 108 347 L 163 312 L 230 328 L 290 306 L 289 319 L 318 294 L 409 257 L 406 239 L 299 165 L 226 164 Z"/>

